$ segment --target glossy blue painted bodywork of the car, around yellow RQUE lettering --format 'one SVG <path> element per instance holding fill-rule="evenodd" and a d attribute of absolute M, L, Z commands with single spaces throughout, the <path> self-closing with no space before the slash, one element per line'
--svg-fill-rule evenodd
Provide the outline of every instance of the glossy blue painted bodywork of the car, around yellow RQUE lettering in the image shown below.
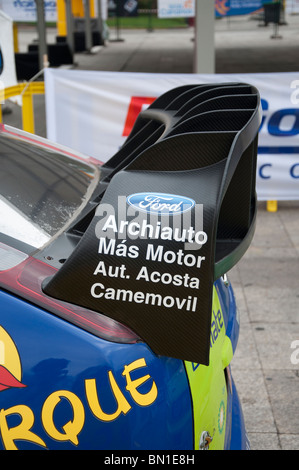
<path fill-rule="evenodd" d="M 236 347 L 239 327 L 234 320 L 232 288 L 221 280 L 217 285 L 227 324 L 234 323 Z M 1 328 L 18 350 L 24 385 L 1 392 L 2 449 L 194 450 L 193 407 L 183 361 L 157 357 L 145 343 L 103 340 L 4 290 L 0 304 Z M 143 362 L 135 369 L 135 377 L 148 379 L 138 393 L 146 396 L 153 383 L 157 387 L 156 399 L 146 406 L 126 390 L 128 380 L 123 375 L 126 365 L 140 359 Z M 113 378 L 127 408 L 125 414 L 111 419 L 118 403 L 111 388 Z M 107 421 L 95 415 L 94 402 L 89 404 L 87 381 L 95 381 L 96 400 Z M 55 399 L 46 417 L 43 409 L 51 396 Z M 28 416 L 29 424 L 25 424 Z M 228 396 L 225 436 L 224 449 L 248 448 L 234 383 Z"/>

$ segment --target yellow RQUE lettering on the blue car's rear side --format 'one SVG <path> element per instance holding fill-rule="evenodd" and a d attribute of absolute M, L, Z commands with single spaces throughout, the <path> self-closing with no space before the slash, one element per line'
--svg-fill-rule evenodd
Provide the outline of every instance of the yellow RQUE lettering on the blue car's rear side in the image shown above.
<path fill-rule="evenodd" d="M 122 375 L 126 378 L 126 391 L 135 403 L 140 406 L 148 406 L 154 403 L 158 396 L 158 389 L 153 380 L 151 389 L 148 393 L 140 393 L 137 388 L 143 383 L 151 379 L 146 374 L 139 379 L 132 380 L 130 374 L 141 367 L 146 367 L 144 358 L 138 359 L 129 365 L 124 366 Z M 111 422 L 116 420 L 121 414 L 126 415 L 132 408 L 124 393 L 118 386 L 112 371 L 108 372 L 110 387 L 115 398 L 116 410 L 112 413 L 104 411 L 100 405 L 100 385 L 96 383 L 96 379 L 85 380 L 85 393 L 87 404 L 93 415 L 103 422 Z M 62 426 L 59 430 L 55 425 L 55 409 L 60 402 L 66 399 L 72 411 L 72 419 Z M 9 417 L 18 415 L 20 422 L 13 427 L 9 426 Z M 71 391 L 58 390 L 51 393 L 44 401 L 41 409 L 41 422 L 47 435 L 58 442 L 69 441 L 73 445 L 79 445 L 79 434 L 82 432 L 85 424 L 85 409 L 81 399 Z M 0 410 L 0 435 L 4 448 L 7 450 L 18 450 L 17 441 L 26 441 L 37 446 L 47 448 L 46 442 L 31 431 L 34 426 L 36 417 L 34 412 L 27 405 L 16 405 L 8 409 Z"/>

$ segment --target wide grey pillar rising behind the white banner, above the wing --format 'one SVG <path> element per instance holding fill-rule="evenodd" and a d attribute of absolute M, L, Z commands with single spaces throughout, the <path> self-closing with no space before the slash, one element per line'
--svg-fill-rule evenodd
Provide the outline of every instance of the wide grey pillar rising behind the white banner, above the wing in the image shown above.
<path fill-rule="evenodd" d="M 212 0 L 195 3 L 194 72 L 215 73 L 215 4 Z"/>

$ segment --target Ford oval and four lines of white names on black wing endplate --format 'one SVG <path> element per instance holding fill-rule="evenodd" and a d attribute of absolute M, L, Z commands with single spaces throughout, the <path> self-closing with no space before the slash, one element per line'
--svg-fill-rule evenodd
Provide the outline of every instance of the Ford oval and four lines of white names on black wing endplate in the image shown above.
<path fill-rule="evenodd" d="M 124 196 L 118 197 L 118 216 L 114 207 L 109 204 L 99 206 L 96 212 L 96 215 L 101 216 L 103 211 L 103 217 L 95 226 L 97 251 L 101 258 L 93 270 L 93 276 L 97 280 L 91 285 L 91 296 L 109 303 L 121 301 L 131 305 L 144 304 L 159 309 L 176 308 L 179 312 L 195 312 L 198 304 L 196 293 L 200 288 L 197 274 L 205 262 L 205 256 L 197 250 L 208 240 L 207 234 L 201 230 L 202 205 L 184 196 L 144 192 L 125 198 L 127 211 L 123 207 L 123 198 Z M 129 215 L 131 208 L 138 211 L 133 219 Z M 190 214 L 193 208 L 196 221 L 191 226 L 191 219 L 186 213 Z M 150 218 L 148 221 L 145 213 L 155 220 Z M 172 226 L 170 222 L 174 217 L 181 215 L 183 220 L 180 219 L 180 226 Z M 163 221 L 157 221 L 158 216 L 163 216 Z M 147 240 L 145 251 L 138 244 L 141 239 Z M 174 249 L 170 249 L 172 245 L 168 242 L 183 245 L 177 248 L 174 245 Z M 117 265 L 108 261 L 111 257 L 118 260 Z M 139 270 L 136 271 L 131 260 L 138 260 Z M 189 274 L 190 268 L 193 268 L 194 275 Z M 137 291 L 132 290 L 131 286 L 126 289 L 124 284 L 119 289 L 116 288 L 115 281 L 125 283 L 132 279 L 135 288 L 139 287 Z M 179 291 L 177 296 L 169 295 L 169 292 L 175 293 L 173 288 L 177 287 L 187 288 L 188 291 L 184 291 L 183 296 Z"/>

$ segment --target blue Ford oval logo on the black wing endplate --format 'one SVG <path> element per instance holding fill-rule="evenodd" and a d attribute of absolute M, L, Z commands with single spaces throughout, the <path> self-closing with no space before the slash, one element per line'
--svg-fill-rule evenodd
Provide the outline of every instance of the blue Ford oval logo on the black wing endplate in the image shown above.
<path fill-rule="evenodd" d="M 195 201 L 189 197 L 166 193 L 131 194 L 127 202 L 139 211 L 161 215 L 182 214 L 195 206 Z"/>

